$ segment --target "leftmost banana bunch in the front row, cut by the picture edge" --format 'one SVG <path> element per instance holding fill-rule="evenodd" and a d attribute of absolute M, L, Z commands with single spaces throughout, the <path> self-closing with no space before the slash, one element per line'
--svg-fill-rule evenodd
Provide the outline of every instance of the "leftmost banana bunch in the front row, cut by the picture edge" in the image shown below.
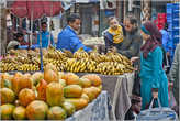
<path fill-rule="evenodd" d="M 0 62 L 0 72 L 13 72 L 16 69 L 16 65 L 13 63 Z"/>

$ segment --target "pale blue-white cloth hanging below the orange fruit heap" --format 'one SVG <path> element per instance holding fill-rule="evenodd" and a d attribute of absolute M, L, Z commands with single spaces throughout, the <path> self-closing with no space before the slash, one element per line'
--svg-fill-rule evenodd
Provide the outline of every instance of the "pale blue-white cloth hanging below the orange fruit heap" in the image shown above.
<path fill-rule="evenodd" d="M 109 121 L 108 92 L 102 91 L 85 109 L 75 112 L 65 121 Z"/>

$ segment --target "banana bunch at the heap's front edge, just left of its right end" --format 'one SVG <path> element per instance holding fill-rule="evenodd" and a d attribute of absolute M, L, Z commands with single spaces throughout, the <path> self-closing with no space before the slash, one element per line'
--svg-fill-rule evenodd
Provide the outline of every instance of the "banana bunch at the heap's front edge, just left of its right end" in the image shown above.
<path fill-rule="evenodd" d="M 117 62 L 103 62 L 97 66 L 97 72 L 103 75 L 123 75 L 125 66 Z"/>

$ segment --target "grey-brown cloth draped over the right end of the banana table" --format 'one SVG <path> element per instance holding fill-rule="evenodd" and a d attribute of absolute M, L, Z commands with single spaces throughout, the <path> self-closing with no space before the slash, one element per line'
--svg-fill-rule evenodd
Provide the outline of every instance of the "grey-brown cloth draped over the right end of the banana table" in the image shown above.
<path fill-rule="evenodd" d="M 78 75 L 85 75 L 85 73 Z M 102 89 L 106 90 L 110 95 L 115 119 L 123 120 L 131 107 L 130 96 L 132 95 L 134 73 L 120 76 L 98 75 L 102 79 Z M 111 116 L 111 119 L 113 119 L 113 116 Z"/>

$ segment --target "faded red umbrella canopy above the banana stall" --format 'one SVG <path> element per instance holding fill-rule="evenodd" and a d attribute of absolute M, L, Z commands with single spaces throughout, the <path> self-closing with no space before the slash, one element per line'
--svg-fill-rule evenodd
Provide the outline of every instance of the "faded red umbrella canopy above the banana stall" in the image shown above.
<path fill-rule="evenodd" d="M 11 6 L 11 12 L 19 18 L 40 19 L 43 15 L 54 16 L 63 11 L 60 1 L 43 0 L 15 0 Z"/>

